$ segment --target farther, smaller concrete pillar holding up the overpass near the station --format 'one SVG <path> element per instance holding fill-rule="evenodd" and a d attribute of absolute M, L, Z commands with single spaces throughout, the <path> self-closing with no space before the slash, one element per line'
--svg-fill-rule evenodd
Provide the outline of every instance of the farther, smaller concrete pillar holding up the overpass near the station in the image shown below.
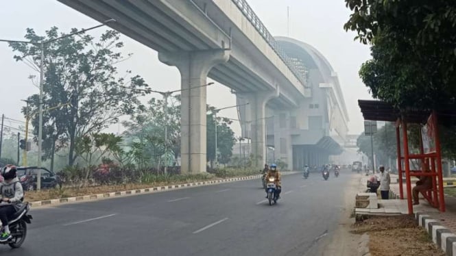
<path fill-rule="evenodd" d="M 276 86 L 276 90 L 270 92 L 252 92 L 243 94 L 243 97 L 248 99 L 250 105 L 251 116 L 251 139 L 252 139 L 252 155 L 254 157 L 254 167 L 263 168 L 266 159 L 266 120 L 265 108 L 266 103 L 270 99 L 278 97 L 280 90 Z M 274 144 L 275 154 L 280 150 L 277 144 Z M 275 156 L 277 158 L 277 156 Z"/>

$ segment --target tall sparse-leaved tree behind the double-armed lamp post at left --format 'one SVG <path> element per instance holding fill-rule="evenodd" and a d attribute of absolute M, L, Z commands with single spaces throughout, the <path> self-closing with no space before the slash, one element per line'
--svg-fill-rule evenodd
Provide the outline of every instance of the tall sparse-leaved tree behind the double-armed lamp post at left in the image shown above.
<path fill-rule="evenodd" d="M 72 29 L 75 32 L 77 29 Z M 52 40 L 61 36 L 57 27 L 46 31 L 46 36 L 36 35 L 27 29 L 25 38 L 32 42 Z M 117 77 L 116 64 L 125 60 L 120 53 L 123 43 L 119 32 L 108 30 L 99 40 L 80 34 L 45 44 L 45 83 L 43 109 L 64 105 L 58 111 L 43 113 L 43 149 L 45 158 L 54 151 L 69 145 L 69 165 L 77 158 L 75 144 L 79 138 L 98 133 L 119 116 L 132 114 L 141 105 L 137 97 L 146 92 L 125 88 L 148 88 L 145 81 L 136 76 Z M 39 70 L 40 48 L 34 44 L 10 43 L 16 61 Z M 130 55 L 130 54 L 129 54 Z M 29 113 L 38 110 L 38 95 L 28 98 Z M 25 114 L 25 109 L 23 109 Z M 38 115 L 32 119 L 34 134 L 38 134 Z M 38 138 L 35 138 L 38 140 Z M 57 144 L 56 144 L 57 143 Z"/>

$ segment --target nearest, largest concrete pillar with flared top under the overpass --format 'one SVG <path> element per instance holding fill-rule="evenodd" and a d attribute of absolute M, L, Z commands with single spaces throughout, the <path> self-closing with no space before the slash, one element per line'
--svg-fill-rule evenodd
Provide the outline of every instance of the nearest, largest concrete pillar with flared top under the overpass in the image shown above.
<path fill-rule="evenodd" d="M 198 86 L 207 84 L 211 68 L 229 57 L 226 50 L 158 53 L 160 62 L 180 71 L 182 172 L 206 172 L 206 87 Z"/>

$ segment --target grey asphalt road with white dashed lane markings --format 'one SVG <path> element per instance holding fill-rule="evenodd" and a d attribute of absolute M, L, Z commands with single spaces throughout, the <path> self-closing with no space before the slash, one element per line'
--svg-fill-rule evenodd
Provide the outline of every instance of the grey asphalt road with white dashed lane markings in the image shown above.
<path fill-rule="evenodd" d="M 32 209 L 19 249 L 1 255 L 321 255 L 351 172 L 283 176 L 277 205 L 260 180 Z"/>

